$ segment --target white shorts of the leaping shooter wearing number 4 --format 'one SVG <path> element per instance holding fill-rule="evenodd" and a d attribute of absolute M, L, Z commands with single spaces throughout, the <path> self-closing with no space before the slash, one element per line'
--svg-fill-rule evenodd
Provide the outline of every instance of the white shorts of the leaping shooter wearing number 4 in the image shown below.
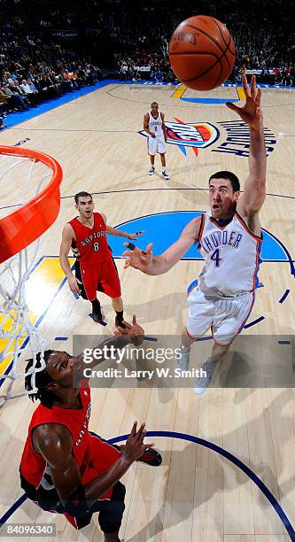
<path fill-rule="evenodd" d="M 218 345 L 229 345 L 244 328 L 253 303 L 254 292 L 237 298 L 206 298 L 197 284 L 188 294 L 188 335 L 203 337 L 211 328 Z"/>

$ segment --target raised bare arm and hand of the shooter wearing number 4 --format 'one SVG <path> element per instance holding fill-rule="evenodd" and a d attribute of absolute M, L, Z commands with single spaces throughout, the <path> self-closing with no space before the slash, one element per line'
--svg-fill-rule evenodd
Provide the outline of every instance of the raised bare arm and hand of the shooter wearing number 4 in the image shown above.
<path fill-rule="evenodd" d="M 237 201 L 237 213 L 253 216 L 260 211 L 266 197 L 267 155 L 264 141 L 261 90 L 256 87 L 255 75 L 249 88 L 243 75 L 245 91 L 244 107 L 227 103 L 229 109 L 237 112 L 250 128 L 249 174 L 245 180 L 244 194 Z"/>

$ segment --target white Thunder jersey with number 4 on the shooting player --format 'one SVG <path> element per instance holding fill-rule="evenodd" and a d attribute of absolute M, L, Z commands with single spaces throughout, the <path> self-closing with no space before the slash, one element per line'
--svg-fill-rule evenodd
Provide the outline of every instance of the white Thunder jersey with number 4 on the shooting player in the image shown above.
<path fill-rule="evenodd" d="M 237 213 L 223 227 L 204 213 L 198 250 L 205 266 L 199 275 L 199 289 L 217 297 L 236 297 L 255 290 L 261 243 L 262 238 L 254 236 Z"/>

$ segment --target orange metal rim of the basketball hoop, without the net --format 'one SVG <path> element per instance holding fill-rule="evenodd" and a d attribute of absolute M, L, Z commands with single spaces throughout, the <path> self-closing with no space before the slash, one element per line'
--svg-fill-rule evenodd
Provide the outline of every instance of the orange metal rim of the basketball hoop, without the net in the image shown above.
<path fill-rule="evenodd" d="M 35 159 L 43 162 L 52 171 L 49 184 L 39 194 L 0 219 L 0 263 L 3 263 L 42 236 L 56 220 L 60 208 L 59 186 L 63 174 L 57 160 L 40 151 L 0 145 L 0 154 Z"/>

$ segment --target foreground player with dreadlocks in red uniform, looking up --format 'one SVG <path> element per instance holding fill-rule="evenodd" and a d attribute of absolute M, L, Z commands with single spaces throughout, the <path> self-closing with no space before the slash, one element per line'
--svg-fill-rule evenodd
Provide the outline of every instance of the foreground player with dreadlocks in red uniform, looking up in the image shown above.
<path fill-rule="evenodd" d="M 144 340 L 144 329 L 133 317 L 132 325 L 118 328 L 116 337 L 106 339 L 98 348 L 117 350 Z M 106 354 L 107 355 L 107 354 Z M 37 354 L 36 368 L 41 368 Z M 27 498 L 43 510 L 66 515 L 75 529 L 89 524 L 99 512 L 98 523 L 105 533 L 105 542 L 120 542 L 119 530 L 124 512 L 125 487 L 120 478 L 134 461 L 159 466 L 161 456 L 144 444 L 143 423 L 133 425 L 124 446 L 108 444 L 89 431 L 90 389 L 83 377 L 83 355 L 74 358 L 66 352 L 44 352 L 45 368 L 35 373 L 37 391 L 29 397 L 39 399 L 28 427 L 27 441 L 20 461 L 21 487 Z M 93 368 L 103 360 L 87 363 Z M 33 368 L 28 360 L 26 374 Z M 26 376 L 25 385 L 32 391 L 33 376 Z M 76 385 L 83 387 L 75 387 Z"/>

